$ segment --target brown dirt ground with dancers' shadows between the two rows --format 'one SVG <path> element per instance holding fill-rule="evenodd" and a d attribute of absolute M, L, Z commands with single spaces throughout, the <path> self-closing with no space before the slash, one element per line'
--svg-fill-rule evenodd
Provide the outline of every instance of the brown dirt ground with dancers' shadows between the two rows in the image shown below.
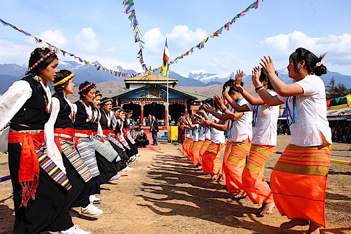
<path fill-rule="evenodd" d="M 290 136 L 278 136 L 277 151 L 283 151 Z M 96 221 L 73 218 L 81 228 L 98 233 L 124 234 L 302 234 L 306 227 L 291 230 L 279 228 L 287 221 L 274 208 L 272 215 L 257 217 L 248 211 L 249 199 L 232 201 L 220 190 L 220 183 L 194 171 L 191 161 L 181 155 L 181 146 L 159 142 L 161 150 L 143 150 L 133 164 L 134 170 L 122 172 L 121 180 L 101 185 L 99 208 L 104 214 Z M 351 161 L 351 145 L 334 143 L 332 158 Z M 279 155 L 273 154 L 266 164 L 270 180 Z M 7 155 L 0 155 L 0 176 L 7 175 Z M 351 233 L 351 167 L 332 164 L 326 190 L 326 229 L 322 233 Z M 224 184 L 222 182 L 222 184 Z M 13 232 L 11 181 L 0 183 L 0 234 Z M 302 204 L 303 205 L 303 204 Z M 76 210 L 79 210 L 76 208 Z M 46 232 L 48 234 L 49 232 Z"/>

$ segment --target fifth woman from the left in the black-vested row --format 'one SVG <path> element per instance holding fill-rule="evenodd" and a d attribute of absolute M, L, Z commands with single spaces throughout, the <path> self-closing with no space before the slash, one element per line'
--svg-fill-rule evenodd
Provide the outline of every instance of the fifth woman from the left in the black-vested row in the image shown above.
<path fill-rule="evenodd" d="M 101 119 L 104 119 L 104 112 L 100 112 L 99 109 L 100 105 L 104 105 L 104 99 L 101 99 L 100 101 L 99 99 L 102 94 L 99 91 L 97 91 L 97 93 L 98 96 L 95 96 L 93 105 L 94 113 L 99 116 L 99 119 L 93 123 L 93 141 L 95 146 L 95 156 L 100 171 L 100 183 L 106 183 L 109 180 L 120 178 L 120 175 L 117 175 L 117 173 L 120 171 L 118 161 L 121 160 L 121 158 L 114 148 L 112 148 L 108 142 L 105 143 L 104 141 L 104 128 L 100 125 Z"/>

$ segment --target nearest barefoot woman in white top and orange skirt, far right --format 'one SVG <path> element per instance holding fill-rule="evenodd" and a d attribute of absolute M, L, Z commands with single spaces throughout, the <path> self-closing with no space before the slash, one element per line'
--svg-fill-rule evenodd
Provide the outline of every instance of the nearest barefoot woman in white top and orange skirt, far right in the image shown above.
<path fill-rule="evenodd" d="M 298 48 L 290 55 L 285 84 L 275 74 L 271 57 L 260 65 L 278 94 L 271 96 L 255 75 L 254 86 L 269 106 L 285 103 L 291 140 L 271 174 L 273 199 L 282 215 L 291 219 L 280 227 L 310 225 L 307 234 L 319 234 L 325 227 L 325 189 L 331 156 L 331 131 L 326 118 L 325 86 L 320 75 L 327 69 L 312 52 Z M 260 69 L 254 69 L 255 74 Z"/>

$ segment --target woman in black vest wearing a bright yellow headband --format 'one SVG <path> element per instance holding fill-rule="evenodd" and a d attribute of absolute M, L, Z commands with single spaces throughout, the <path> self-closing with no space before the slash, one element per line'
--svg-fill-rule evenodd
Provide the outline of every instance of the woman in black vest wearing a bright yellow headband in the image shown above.
<path fill-rule="evenodd" d="M 73 122 L 75 111 L 72 103 L 66 98 L 74 90 L 74 73 L 61 70 L 54 80 L 55 93 L 52 95 L 53 111 L 45 124 L 45 140 L 50 158 L 61 156 L 74 174 L 69 177 L 72 188 L 68 190 L 69 207 L 86 207 L 89 205 L 89 182 L 92 179 L 86 163 L 74 148 Z M 52 147 L 49 147 L 52 146 Z M 75 211 L 74 211 L 75 212 Z"/>

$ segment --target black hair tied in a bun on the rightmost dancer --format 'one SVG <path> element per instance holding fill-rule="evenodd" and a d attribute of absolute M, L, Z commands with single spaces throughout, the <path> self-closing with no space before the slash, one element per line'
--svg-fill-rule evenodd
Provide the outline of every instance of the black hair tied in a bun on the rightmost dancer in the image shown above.
<path fill-rule="evenodd" d="M 295 72 L 299 73 L 299 69 L 297 67 L 298 62 L 304 60 L 308 73 L 312 72 L 312 74 L 314 73 L 318 76 L 321 76 L 321 75 L 327 73 L 327 68 L 324 65 L 320 65 L 317 67 L 315 67 L 315 66 L 318 62 L 322 61 L 322 59 L 324 58 L 325 55 L 326 55 L 326 53 L 317 57 L 316 55 L 314 55 L 312 52 L 308 51 L 307 49 L 300 47 L 300 48 L 297 48 L 296 51 L 290 55 L 289 60 L 292 59 L 292 61 L 294 63 Z"/>

